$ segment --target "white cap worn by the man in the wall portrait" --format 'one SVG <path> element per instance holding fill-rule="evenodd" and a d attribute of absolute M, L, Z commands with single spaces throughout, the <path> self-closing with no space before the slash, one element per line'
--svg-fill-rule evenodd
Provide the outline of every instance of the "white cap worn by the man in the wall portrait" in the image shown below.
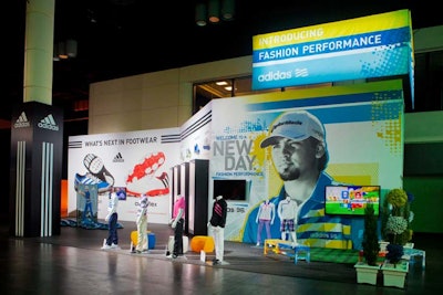
<path fill-rule="evenodd" d="M 276 140 L 281 137 L 297 141 L 313 137 L 324 143 L 324 127 L 316 116 L 307 110 L 288 112 L 276 118 L 269 129 L 269 135 L 261 141 L 260 147 L 275 145 Z"/>

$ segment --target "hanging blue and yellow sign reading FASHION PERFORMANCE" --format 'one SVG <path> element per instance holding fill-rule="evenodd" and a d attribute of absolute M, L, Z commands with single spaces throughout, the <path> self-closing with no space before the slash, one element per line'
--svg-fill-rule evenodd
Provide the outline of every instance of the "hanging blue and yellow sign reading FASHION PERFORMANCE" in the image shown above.
<path fill-rule="evenodd" d="M 408 74 L 411 32 L 410 11 L 399 10 L 255 35 L 253 89 Z"/>

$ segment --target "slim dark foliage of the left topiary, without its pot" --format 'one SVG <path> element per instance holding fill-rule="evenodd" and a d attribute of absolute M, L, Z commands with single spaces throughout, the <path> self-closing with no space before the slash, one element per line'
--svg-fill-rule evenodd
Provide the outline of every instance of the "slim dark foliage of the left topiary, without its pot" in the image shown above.
<path fill-rule="evenodd" d="M 363 256 L 369 265 L 377 265 L 380 252 L 379 235 L 377 233 L 377 215 L 372 203 L 364 208 Z"/>

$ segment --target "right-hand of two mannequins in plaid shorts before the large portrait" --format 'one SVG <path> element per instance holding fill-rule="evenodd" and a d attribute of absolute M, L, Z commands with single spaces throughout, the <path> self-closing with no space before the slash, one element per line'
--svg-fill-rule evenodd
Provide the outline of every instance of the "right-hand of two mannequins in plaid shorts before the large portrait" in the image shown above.
<path fill-rule="evenodd" d="M 292 239 L 292 245 L 297 245 L 297 202 L 286 197 L 278 204 L 278 217 L 281 221 L 281 240 L 286 241 L 289 236 Z"/>

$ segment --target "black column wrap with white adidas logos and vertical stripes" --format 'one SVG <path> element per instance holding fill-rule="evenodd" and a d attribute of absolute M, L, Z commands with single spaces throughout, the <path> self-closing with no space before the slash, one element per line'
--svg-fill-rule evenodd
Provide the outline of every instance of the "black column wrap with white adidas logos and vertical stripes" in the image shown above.
<path fill-rule="evenodd" d="M 16 107 L 11 118 L 10 234 L 60 234 L 63 112 L 37 103 Z"/>

